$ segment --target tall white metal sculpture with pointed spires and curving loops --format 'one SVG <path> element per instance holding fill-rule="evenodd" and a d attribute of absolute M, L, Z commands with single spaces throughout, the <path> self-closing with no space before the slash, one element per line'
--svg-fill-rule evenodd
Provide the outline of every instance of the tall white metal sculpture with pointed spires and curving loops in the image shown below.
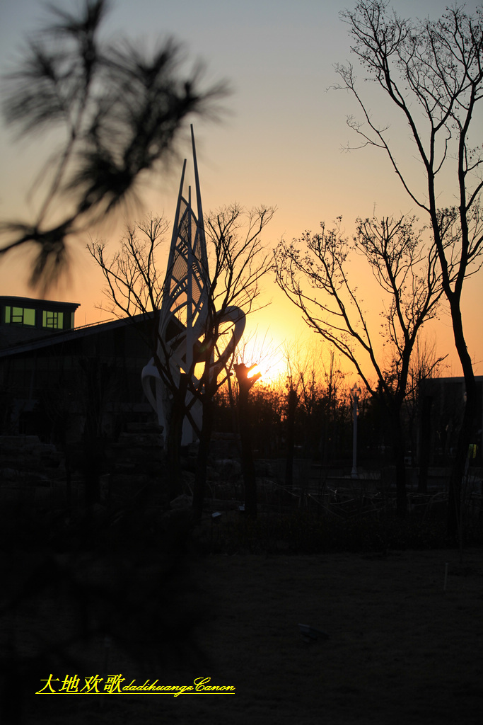
<path fill-rule="evenodd" d="M 223 314 L 210 309 L 210 277 L 206 238 L 201 207 L 201 190 L 196 162 L 195 138 L 191 126 L 193 145 L 193 167 L 196 184 L 197 216 L 191 206 L 191 187 L 188 187 L 188 200 L 182 196 L 185 181 L 186 159 L 183 163 L 180 192 L 177 199 L 175 223 L 173 225 L 171 247 L 167 273 L 164 278 L 163 300 L 159 315 L 159 337 L 157 356 L 161 364 L 169 366 L 172 384 L 163 379 L 151 357 L 143 368 L 141 382 L 148 401 L 158 414 L 159 424 L 167 428 L 171 417 L 174 397 L 172 385 L 180 384 L 180 375 L 190 376 L 194 386 L 198 383 L 194 375 L 195 365 L 204 361 L 201 357 L 201 342 L 210 331 L 219 325 L 231 325 L 231 336 L 223 352 L 215 340 L 209 344 L 209 374 L 218 376 L 240 340 L 245 328 L 245 314 L 238 307 L 231 306 Z M 216 323 L 216 324 L 215 324 Z M 216 356 L 216 357 L 215 357 Z M 166 377 L 166 376 L 165 376 Z M 154 384 L 154 385 L 153 385 Z M 196 425 L 201 424 L 201 402 L 193 402 L 193 393 L 187 393 L 186 406 Z M 193 428 L 187 418 L 183 423 L 182 443 L 193 441 Z"/>

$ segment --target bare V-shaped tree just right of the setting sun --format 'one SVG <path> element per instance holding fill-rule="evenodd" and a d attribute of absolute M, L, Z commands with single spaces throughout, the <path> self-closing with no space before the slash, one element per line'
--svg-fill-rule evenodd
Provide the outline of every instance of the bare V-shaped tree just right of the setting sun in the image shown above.
<path fill-rule="evenodd" d="M 339 219 L 332 230 L 322 223 L 321 233 L 306 232 L 290 245 L 282 241 L 275 251 L 281 289 L 300 308 L 308 326 L 350 361 L 387 414 L 401 516 L 406 513 L 406 476 L 400 411 L 416 337 L 423 323 L 436 315 L 442 295 L 434 244 L 425 249 L 415 221 L 358 219 L 357 234 L 350 241 Z M 369 314 L 350 282 L 350 252 L 361 252 L 385 295 L 382 340 L 371 331 Z M 390 356 L 395 360 L 392 370 Z"/>

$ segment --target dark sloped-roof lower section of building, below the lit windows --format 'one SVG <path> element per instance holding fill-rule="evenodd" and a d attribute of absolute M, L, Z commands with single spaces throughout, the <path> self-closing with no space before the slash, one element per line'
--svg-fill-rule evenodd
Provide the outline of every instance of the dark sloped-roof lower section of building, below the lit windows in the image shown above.
<path fill-rule="evenodd" d="M 140 384 L 148 326 L 118 320 L 1 352 L 1 432 L 55 442 L 78 438 L 88 411 L 108 434 L 130 411 L 151 412 Z"/>

